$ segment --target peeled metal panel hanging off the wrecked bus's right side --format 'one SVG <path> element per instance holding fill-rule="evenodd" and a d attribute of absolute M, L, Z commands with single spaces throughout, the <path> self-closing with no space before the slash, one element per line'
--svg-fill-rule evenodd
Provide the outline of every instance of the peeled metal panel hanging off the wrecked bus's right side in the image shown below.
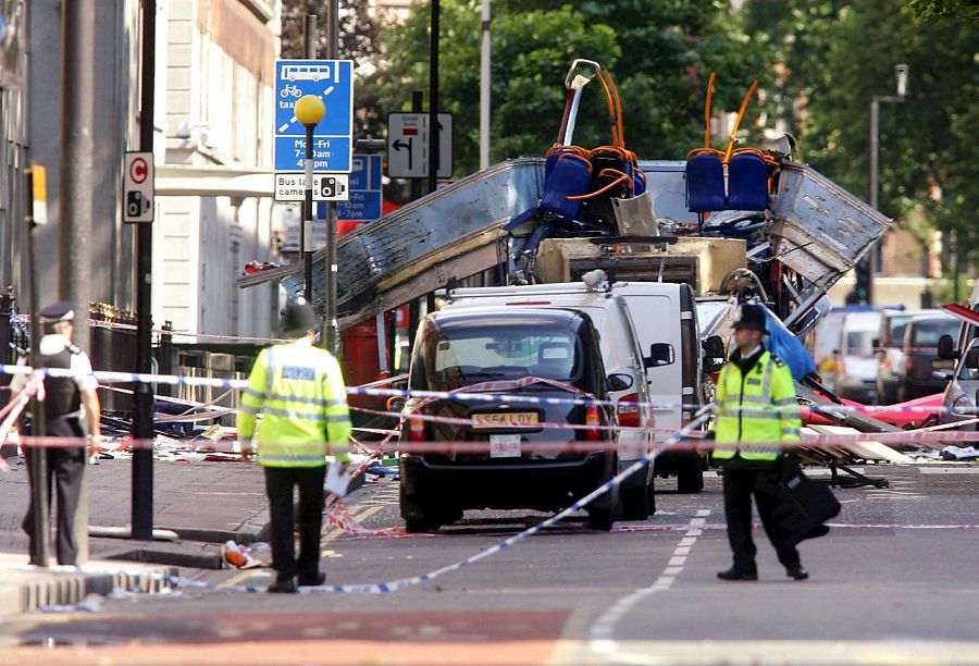
<path fill-rule="evenodd" d="M 783 164 L 769 234 L 776 258 L 829 288 L 880 240 L 891 220 L 808 166 Z"/>

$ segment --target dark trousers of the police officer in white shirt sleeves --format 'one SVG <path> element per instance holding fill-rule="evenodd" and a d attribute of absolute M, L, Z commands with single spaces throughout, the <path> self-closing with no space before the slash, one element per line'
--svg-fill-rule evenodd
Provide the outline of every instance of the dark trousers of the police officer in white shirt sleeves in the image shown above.
<path fill-rule="evenodd" d="M 45 436 L 51 437 L 84 437 L 80 420 L 77 416 L 61 416 L 45 420 Z M 48 459 L 48 498 L 52 503 L 58 499 L 58 538 L 55 539 L 55 553 L 58 564 L 75 565 L 78 559 L 79 535 L 84 535 L 88 529 L 85 525 L 86 511 L 78 516 L 78 505 L 82 502 L 84 488 L 85 465 L 87 451 L 84 446 L 50 447 L 45 448 L 44 454 Z M 27 474 L 34 483 L 30 473 L 30 456 L 27 456 Z M 51 492 L 51 482 L 54 482 L 54 492 Z M 32 492 L 30 507 L 24 517 L 22 527 L 27 532 L 30 542 L 30 562 L 34 562 L 34 493 Z M 80 520 L 79 520 L 80 519 Z M 76 525 L 80 522 L 82 525 Z"/>

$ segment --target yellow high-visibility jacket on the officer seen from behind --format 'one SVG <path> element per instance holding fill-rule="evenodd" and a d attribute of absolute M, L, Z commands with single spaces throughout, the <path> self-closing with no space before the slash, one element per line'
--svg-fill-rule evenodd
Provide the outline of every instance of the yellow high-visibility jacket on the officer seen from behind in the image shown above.
<path fill-rule="evenodd" d="M 318 467 L 331 453 L 349 460 L 350 412 L 339 363 L 305 341 L 262 349 L 248 378 L 238 412 L 238 439 L 255 435 L 258 462 L 268 467 Z"/>

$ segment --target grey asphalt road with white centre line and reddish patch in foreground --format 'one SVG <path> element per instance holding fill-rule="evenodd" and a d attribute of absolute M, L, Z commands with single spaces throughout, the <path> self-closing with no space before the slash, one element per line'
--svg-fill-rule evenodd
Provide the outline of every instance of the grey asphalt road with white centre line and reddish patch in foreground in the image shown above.
<path fill-rule="evenodd" d="M 387 595 L 184 589 L 24 617 L 0 628 L 0 663 L 979 663 L 979 468 L 870 471 L 890 488 L 838 490 L 840 527 L 801 546 L 807 581 L 785 578 L 760 530 L 760 580 L 715 577 L 730 554 L 711 473 L 699 495 L 665 490 L 645 522 L 608 534 L 571 521 Z M 396 481 L 348 499 L 369 528 L 400 525 Z M 337 583 L 411 577 L 543 517 L 473 511 L 429 536 L 331 531 L 324 569 Z"/>

